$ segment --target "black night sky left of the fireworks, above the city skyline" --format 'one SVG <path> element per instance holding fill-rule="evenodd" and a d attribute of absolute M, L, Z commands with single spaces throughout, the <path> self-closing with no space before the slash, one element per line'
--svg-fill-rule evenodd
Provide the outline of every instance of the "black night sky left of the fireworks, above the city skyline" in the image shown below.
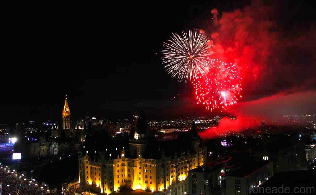
<path fill-rule="evenodd" d="M 158 1 L 10 8 L 2 27 L 0 123 L 59 120 L 65 94 L 73 118 L 87 112 L 127 118 L 139 109 L 149 119 L 205 114 L 193 106 L 191 86 L 165 73 L 163 42 L 174 32 L 207 28 L 213 8 L 229 12 L 248 4 Z M 314 8 L 300 6 L 297 21 L 315 21 Z"/>

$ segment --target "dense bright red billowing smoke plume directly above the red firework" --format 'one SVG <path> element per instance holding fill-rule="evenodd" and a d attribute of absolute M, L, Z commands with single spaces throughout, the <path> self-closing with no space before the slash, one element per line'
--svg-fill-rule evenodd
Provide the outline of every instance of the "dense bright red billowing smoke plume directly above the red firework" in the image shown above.
<path fill-rule="evenodd" d="M 252 87 L 258 87 L 256 83 L 261 82 L 259 73 L 262 79 L 268 76 L 268 58 L 278 42 L 277 33 L 270 30 L 275 23 L 267 17 L 272 12 L 264 6 L 224 12 L 219 20 L 218 35 L 212 36 L 216 39 L 219 58 L 235 61 Z"/>

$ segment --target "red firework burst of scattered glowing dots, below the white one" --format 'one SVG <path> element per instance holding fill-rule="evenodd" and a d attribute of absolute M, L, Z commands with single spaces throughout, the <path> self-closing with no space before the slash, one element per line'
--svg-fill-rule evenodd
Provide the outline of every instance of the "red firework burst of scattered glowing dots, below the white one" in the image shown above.
<path fill-rule="evenodd" d="M 197 104 L 205 109 L 226 110 L 241 98 L 241 81 L 237 67 L 218 59 L 210 61 L 210 68 L 202 76 L 196 76 L 193 82 Z"/>

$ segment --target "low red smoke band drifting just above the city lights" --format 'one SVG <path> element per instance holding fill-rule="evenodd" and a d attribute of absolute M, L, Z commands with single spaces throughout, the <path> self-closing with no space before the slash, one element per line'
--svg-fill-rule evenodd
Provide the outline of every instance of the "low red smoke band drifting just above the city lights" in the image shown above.
<path fill-rule="evenodd" d="M 228 108 L 229 113 L 237 115 L 237 119 L 225 117 L 218 126 L 211 127 L 199 135 L 203 139 L 219 137 L 230 132 L 242 132 L 249 128 L 255 129 L 261 125 L 262 119 L 267 125 L 273 126 L 306 126 L 305 123 L 289 123 L 284 114 L 313 113 L 316 108 L 316 91 L 279 93 L 258 100 L 238 103 Z M 308 102 L 306 104 L 306 102 Z M 303 103 L 303 104 L 302 104 Z M 279 116 L 276 116 L 277 111 Z"/>

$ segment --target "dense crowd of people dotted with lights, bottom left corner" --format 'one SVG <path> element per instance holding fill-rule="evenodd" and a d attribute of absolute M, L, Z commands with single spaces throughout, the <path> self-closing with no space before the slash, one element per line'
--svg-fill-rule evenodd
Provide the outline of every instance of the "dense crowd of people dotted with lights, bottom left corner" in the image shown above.
<path fill-rule="evenodd" d="M 61 192 L 50 190 L 47 185 L 40 185 L 34 179 L 18 174 L 8 166 L 0 166 L 1 192 L 4 195 L 57 195 Z"/>

